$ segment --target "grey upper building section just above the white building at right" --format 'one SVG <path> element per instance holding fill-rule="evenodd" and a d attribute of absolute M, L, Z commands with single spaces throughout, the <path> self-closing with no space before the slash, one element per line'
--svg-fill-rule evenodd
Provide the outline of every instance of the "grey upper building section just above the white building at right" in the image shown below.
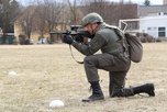
<path fill-rule="evenodd" d="M 140 5 L 138 16 L 156 15 L 158 13 L 167 14 L 167 5 Z"/>

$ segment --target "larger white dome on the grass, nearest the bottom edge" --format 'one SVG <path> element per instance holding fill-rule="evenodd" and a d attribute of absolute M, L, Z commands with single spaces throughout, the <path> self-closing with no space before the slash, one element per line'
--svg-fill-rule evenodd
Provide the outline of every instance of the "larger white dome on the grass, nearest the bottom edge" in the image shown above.
<path fill-rule="evenodd" d="M 65 107 L 62 100 L 53 100 L 49 102 L 49 108 L 62 108 Z"/>

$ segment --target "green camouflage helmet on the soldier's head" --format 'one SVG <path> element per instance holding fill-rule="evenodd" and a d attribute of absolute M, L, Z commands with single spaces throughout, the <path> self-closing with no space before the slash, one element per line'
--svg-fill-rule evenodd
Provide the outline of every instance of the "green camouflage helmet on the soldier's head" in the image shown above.
<path fill-rule="evenodd" d="M 82 18 L 81 25 L 86 26 L 89 23 L 92 24 L 92 23 L 97 23 L 97 22 L 102 23 L 103 19 L 101 18 L 100 14 L 93 12 L 93 13 L 89 13 Z"/>

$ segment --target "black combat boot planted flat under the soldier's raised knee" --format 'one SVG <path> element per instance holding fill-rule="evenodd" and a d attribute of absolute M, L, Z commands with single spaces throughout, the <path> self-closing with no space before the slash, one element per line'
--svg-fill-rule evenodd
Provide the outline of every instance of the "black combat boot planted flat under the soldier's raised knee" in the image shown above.
<path fill-rule="evenodd" d="M 92 101 L 104 100 L 104 96 L 100 88 L 99 81 L 90 82 L 90 85 L 91 85 L 91 89 L 92 89 L 92 94 L 87 99 L 82 99 L 82 102 L 92 102 Z"/>

